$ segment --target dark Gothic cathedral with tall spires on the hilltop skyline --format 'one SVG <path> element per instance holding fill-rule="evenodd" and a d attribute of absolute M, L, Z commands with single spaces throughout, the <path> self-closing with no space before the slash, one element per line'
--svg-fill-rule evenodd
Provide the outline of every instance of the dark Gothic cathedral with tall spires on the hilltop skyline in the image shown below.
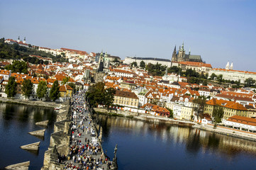
<path fill-rule="evenodd" d="M 184 43 L 182 47 L 179 46 L 179 51 L 176 51 L 176 45 L 174 51 L 172 52 L 172 62 L 202 62 L 201 55 L 191 55 L 190 50 L 189 54 L 185 54 Z"/>

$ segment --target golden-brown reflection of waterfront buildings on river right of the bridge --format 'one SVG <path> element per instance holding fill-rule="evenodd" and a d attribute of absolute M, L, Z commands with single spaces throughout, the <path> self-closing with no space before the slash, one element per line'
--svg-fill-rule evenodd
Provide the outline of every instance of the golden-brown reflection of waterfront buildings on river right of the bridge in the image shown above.
<path fill-rule="evenodd" d="M 187 152 L 198 154 L 199 152 L 213 152 L 233 158 L 237 154 L 246 153 L 256 156 L 256 142 L 243 140 L 226 135 L 219 135 L 204 130 L 193 128 L 180 128 L 172 125 L 146 123 L 129 118 L 99 115 L 99 120 L 104 128 L 105 140 L 111 133 L 111 128 L 120 128 L 131 137 L 147 137 L 161 141 L 165 145 L 174 146 L 184 144 Z"/>

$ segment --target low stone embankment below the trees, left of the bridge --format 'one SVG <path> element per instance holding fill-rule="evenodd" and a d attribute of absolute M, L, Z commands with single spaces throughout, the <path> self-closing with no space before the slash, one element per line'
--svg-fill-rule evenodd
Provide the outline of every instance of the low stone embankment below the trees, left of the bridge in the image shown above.
<path fill-rule="evenodd" d="M 13 98 L 2 98 L 0 97 L 0 103 L 11 103 L 11 104 L 22 104 L 30 106 L 40 106 L 46 108 L 57 108 L 60 107 L 61 103 L 45 102 L 45 101 L 28 101 L 25 99 L 13 99 Z"/>

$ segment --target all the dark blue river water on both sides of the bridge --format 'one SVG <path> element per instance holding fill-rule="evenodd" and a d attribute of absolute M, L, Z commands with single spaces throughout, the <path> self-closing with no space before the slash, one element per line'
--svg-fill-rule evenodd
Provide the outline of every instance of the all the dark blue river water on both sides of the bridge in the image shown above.
<path fill-rule="evenodd" d="M 56 113 L 52 108 L 0 103 L 0 169 L 30 160 L 29 169 L 43 166 Z M 118 168 L 123 169 L 256 169 L 256 142 L 204 130 L 145 123 L 99 115 L 103 147 L 113 158 L 118 144 Z M 40 130 L 35 122 L 50 120 L 45 138 L 28 132 Z M 41 142 L 38 153 L 21 145 Z"/>

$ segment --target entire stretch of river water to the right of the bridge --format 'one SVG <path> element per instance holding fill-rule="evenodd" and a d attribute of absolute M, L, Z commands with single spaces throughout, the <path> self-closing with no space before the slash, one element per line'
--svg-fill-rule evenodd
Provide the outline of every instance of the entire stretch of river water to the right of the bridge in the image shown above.
<path fill-rule="evenodd" d="M 118 168 L 256 169 L 256 142 L 193 128 L 99 115 L 103 147 Z"/>

